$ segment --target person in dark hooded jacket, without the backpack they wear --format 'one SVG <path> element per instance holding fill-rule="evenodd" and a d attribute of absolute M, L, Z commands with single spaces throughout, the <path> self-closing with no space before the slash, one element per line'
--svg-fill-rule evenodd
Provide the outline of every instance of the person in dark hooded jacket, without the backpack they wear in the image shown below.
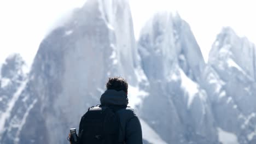
<path fill-rule="evenodd" d="M 118 143 L 142 144 L 142 128 L 135 111 L 128 107 L 129 100 L 128 83 L 123 77 L 109 77 L 106 83 L 106 91 L 101 95 L 100 106 L 108 106 L 118 113 L 119 133 Z M 92 107 L 93 108 L 93 107 Z M 90 109 L 89 109 L 90 110 Z M 82 117 L 83 119 L 83 117 Z M 79 138 L 82 132 L 82 119 L 79 124 Z"/>

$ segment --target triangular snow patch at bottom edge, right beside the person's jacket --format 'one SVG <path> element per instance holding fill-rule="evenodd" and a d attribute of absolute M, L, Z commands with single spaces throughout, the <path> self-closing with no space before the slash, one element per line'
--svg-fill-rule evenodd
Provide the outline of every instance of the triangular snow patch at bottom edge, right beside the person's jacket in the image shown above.
<path fill-rule="evenodd" d="M 167 144 L 143 119 L 139 119 L 139 121 L 141 122 L 144 140 L 147 140 L 149 143 Z"/>

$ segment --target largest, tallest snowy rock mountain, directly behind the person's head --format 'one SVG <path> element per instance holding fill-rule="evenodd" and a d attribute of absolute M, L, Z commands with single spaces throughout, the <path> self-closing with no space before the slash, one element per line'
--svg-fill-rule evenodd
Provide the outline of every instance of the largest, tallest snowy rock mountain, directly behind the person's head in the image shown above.
<path fill-rule="evenodd" d="M 129 3 L 108 2 L 87 1 L 42 41 L 22 93 L 36 105 L 9 143 L 67 142 L 69 128 L 78 128 L 88 107 L 100 104 L 108 76 L 126 77 L 131 106 L 147 95 L 139 91 L 147 79 L 138 65 Z"/>

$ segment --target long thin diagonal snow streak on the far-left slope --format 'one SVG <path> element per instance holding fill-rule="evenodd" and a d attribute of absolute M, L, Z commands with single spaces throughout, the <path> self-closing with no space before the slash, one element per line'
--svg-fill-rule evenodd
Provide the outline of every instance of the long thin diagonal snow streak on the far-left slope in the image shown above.
<path fill-rule="evenodd" d="M 4 125 L 5 122 L 8 120 L 8 118 L 10 117 L 10 113 L 11 110 L 13 110 L 13 107 L 16 103 L 16 101 L 19 99 L 21 92 L 24 90 L 24 88 L 27 85 L 27 81 L 24 81 L 21 83 L 20 87 L 17 89 L 17 91 L 14 93 L 13 97 L 11 98 L 10 102 L 7 104 L 7 109 L 5 112 L 2 113 L 1 117 L 0 117 L 0 139 L 2 138 L 2 134 L 4 132 Z"/>

